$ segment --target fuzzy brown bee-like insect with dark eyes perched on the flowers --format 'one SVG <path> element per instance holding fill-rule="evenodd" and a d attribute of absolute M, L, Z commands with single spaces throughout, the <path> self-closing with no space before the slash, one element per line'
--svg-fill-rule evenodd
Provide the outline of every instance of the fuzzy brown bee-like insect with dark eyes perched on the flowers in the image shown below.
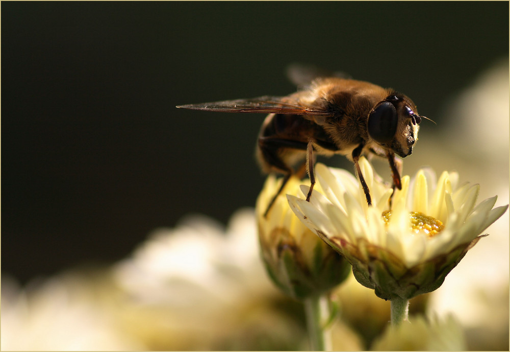
<path fill-rule="evenodd" d="M 343 154 L 353 161 L 369 205 L 370 190 L 358 163 L 362 154 L 386 157 L 393 189 L 401 189 L 401 160 L 395 154 L 402 158 L 411 155 L 418 139 L 418 124 L 426 119 L 402 93 L 339 77 L 316 77 L 307 87 L 286 97 L 264 96 L 177 107 L 269 114 L 259 133 L 257 157 L 263 172 L 282 173 L 284 180 L 265 215 L 299 164 L 297 174 L 302 177 L 306 170 L 310 176 L 307 195 L 310 201 L 315 184 L 314 152 Z"/>

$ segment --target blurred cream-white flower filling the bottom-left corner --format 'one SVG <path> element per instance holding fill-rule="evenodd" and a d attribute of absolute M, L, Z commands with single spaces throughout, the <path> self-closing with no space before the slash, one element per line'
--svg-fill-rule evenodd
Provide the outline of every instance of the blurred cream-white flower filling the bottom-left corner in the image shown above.
<path fill-rule="evenodd" d="M 139 350 L 114 315 L 105 273 L 70 271 L 21 290 L 2 277 L 2 350 Z"/>

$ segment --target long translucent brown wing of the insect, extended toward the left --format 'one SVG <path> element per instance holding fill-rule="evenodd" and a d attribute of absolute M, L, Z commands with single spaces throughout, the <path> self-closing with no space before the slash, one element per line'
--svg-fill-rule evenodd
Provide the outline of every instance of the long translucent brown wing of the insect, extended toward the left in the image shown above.
<path fill-rule="evenodd" d="M 284 113 L 296 115 L 330 115 L 318 107 L 299 104 L 288 97 L 264 96 L 252 99 L 225 100 L 222 102 L 178 105 L 177 108 L 219 112 Z"/>

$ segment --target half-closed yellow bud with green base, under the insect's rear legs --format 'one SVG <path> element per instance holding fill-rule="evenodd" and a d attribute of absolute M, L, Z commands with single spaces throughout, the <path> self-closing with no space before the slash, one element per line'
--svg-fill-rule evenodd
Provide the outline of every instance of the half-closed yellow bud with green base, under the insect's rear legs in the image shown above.
<path fill-rule="evenodd" d="M 286 194 L 300 193 L 299 185 L 305 182 L 291 177 L 265 216 L 268 204 L 282 184 L 282 179 L 269 176 L 256 206 L 261 254 L 267 272 L 276 286 L 296 299 L 333 289 L 342 283 L 351 268 L 342 255 L 321 241 L 290 209 Z"/>

